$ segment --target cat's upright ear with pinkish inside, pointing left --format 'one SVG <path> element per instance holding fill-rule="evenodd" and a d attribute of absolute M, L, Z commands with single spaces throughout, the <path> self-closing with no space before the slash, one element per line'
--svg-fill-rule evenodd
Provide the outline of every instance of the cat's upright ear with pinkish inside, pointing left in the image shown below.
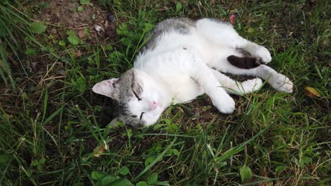
<path fill-rule="evenodd" d="M 114 97 L 114 90 L 118 87 L 118 78 L 112 78 L 110 80 L 104 80 L 102 82 L 98 82 L 92 88 L 93 92 L 97 94 L 104 95 L 106 97 L 111 97 L 112 99 L 116 99 Z"/>

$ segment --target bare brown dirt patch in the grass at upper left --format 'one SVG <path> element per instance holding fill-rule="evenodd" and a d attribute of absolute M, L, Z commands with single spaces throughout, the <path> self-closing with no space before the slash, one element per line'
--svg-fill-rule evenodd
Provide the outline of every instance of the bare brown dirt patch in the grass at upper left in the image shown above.
<path fill-rule="evenodd" d="M 79 1 L 71 0 L 43 1 L 42 4 L 47 4 L 47 8 L 40 8 L 36 20 L 48 23 L 50 33 L 56 37 L 64 30 L 74 30 L 80 39 L 88 43 L 116 37 L 115 16 L 96 4 L 81 5 Z"/>

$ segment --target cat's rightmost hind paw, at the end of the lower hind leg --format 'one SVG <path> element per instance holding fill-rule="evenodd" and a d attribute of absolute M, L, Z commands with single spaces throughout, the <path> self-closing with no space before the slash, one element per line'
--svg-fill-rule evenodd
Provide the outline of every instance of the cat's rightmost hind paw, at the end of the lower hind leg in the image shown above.
<path fill-rule="evenodd" d="M 280 92 L 293 92 L 293 82 L 289 80 L 289 77 L 286 77 L 280 73 L 277 73 L 277 75 L 272 75 L 269 83 L 272 87 L 274 87 L 274 89 L 277 89 Z"/>

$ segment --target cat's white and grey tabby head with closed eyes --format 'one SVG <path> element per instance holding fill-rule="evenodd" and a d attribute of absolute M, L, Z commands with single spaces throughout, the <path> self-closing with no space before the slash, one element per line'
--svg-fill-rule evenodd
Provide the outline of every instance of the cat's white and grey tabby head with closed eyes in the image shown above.
<path fill-rule="evenodd" d="M 158 84 L 149 75 L 134 68 L 120 78 L 98 82 L 93 92 L 117 100 L 118 119 L 134 127 L 156 123 L 164 111 Z"/>

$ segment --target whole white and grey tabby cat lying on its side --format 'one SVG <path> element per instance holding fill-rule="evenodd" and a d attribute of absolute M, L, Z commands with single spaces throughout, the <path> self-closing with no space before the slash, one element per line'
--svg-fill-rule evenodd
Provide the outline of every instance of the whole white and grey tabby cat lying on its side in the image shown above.
<path fill-rule="evenodd" d="M 269 51 L 240 37 L 230 23 L 170 18 L 145 38 L 149 40 L 133 68 L 93 87 L 93 92 L 118 101 L 118 120 L 124 124 L 152 125 L 170 104 L 192 101 L 204 93 L 221 113 L 232 113 L 235 101 L 229 94 L 254 92 L 262 80 L 281 92 L 293 91 L 288 77 L 264 64 L 272 61 Z M 237 82 L 223 73 L 256 78 Z"/>

